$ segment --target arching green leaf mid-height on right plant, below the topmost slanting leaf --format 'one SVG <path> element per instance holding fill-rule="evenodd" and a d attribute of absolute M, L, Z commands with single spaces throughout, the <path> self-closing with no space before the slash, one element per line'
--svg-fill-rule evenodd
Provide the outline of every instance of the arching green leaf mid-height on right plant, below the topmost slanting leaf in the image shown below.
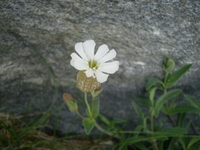
<path fill-rule="evenodd" d="M 159 113 L 160 109 L 163 107 L 163 105 L 168 101 L 170 100 L 171 98 L 179 95 L 181 93 L 182 90 L 180 89 L 175 89 L 175 90 L 172 90 L 172 91 L 169 91 L 165 94 L 163 94 L 162 96 L 160 96 L 157 101 L 155 102 L 155 111 L 157 113 Z M 157 114 L 158 115 L 158 114 Z"/>

